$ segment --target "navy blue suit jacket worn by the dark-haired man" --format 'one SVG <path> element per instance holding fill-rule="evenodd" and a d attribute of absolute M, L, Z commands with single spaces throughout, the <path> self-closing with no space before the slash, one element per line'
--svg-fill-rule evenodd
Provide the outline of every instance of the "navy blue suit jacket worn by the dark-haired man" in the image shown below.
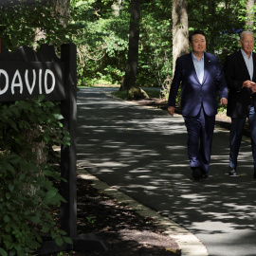
<path fill-rule="evenodd" d="M 174 80 L 172 82 L 169 106 L 175 106 L 175 99 L 180 82 L 181 110 L 185 117 L 195 117 L 203 104 L 208 116 L 217 114 L 217 92 L 221 98 L 228 98 L 228 88 L 218 58 L 204 53 L 204 79 L 200 84 L 192 62 L 192 53 L 185 54 L 176 60 Z"/>

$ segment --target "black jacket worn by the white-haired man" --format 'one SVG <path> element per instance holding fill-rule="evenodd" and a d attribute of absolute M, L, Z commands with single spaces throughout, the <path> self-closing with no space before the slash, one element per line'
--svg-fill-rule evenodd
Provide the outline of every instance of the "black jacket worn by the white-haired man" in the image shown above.
<path fill-rule="evenodd" d="M 253 58 L 253 82 L 256 82 L 256 54 Z M 250 80 L 247 64 L 241 50 L 232 53 L 226 59 L 224 73 L 229 87 L 227 115 L 231 118 L 246 118 L 250 105 L 255 101 L 251 90 L 243 88 L 243 82 Z M 255 104 L 254 104 L 255 105 Z"/>

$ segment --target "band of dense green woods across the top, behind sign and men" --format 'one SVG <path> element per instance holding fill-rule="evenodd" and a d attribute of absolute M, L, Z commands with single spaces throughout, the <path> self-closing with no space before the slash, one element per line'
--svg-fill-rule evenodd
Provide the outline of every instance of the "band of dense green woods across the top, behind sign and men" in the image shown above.
<path fill-rule="evenodd" d="M 84 86 L 121 84 L 125 81 L 125 69 L 127 72 L 132 62 L 129 59 L 136 55 L 137 67 L 130 68 L 137 69 L 136 84 L 162 86 L 172 78 L 176 56 L 189 50 L 189 31 L 203 29 L 208 39 L 207 50 L 223 62 L 238 47 L 238 33 L 247 27 L 255 28 L 252 0 L 43 1 L 52 9 L 42 7 L 42 1 L 13 2 L 23 4 L 2 8 L 2 43 L 10 49 L 42 43 L 57 47 L 75 43 L 78 84 Z M 140 17 L 133 16 L 136 9 L 140 10 Z M 135 23 L 137 27 L 133 26 Z M 137 32 L 133 34 L 137 39 L 131 41 L 131 29 L 135 27 Z M 46 36 L 36 37 L 34 42 L 31 35 L 36 36 L 38 31 L 44 31 Z M 129 48 L 138 54 L 128 58 Z"/>

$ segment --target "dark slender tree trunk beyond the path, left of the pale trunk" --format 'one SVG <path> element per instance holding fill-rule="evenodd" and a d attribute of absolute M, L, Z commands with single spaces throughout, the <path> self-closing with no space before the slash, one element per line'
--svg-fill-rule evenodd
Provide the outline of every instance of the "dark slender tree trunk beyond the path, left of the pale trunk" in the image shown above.
<path fill-rule="evenodd" d="M 140 0 L 132 0 L 128 61 L 125 68 L 124 81 L 120 85 L 120 90 L 129 90 L 129 88 L 136 85 L 139 19 L 140 19 Z"/>

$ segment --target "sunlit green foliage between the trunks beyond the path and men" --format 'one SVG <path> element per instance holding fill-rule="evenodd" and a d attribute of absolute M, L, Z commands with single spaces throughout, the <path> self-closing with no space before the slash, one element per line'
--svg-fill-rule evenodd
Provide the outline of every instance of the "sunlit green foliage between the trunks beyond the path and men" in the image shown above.
<path fill-rule="evenodd" d="M 189 0 L 190 30 L 207 33 L 207 50 L 227 55 L 239 45 L 237 33 L 245 27 L 245 0 Z M 72 0 L 71 21 L 80 25 L 72 37 L 78 46 L 78 84 L 119 84 L 127 64 L 130 3 L 122 1 L 119 16 L 112 13 L 113 1 Z M 137 85 L 161 86 L 173 76 L 172 4 L 168 0 L 141 1 Z M 170 85 L 170 84 L 168 84 Z"/>

